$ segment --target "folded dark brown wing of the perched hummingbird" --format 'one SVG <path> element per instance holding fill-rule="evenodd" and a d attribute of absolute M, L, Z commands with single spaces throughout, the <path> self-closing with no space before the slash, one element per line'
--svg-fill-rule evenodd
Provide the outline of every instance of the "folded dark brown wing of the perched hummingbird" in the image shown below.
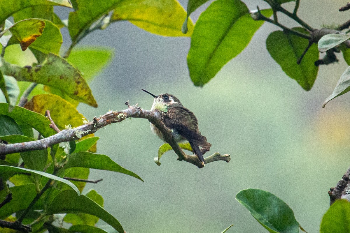
<path fill-rule="evenodd" d="M 211 144 L 207 142 L 207 138 L 202 136 L 198 129 L 198 121 L 196 116 L 193 114 L 193 112 L 183 106 L 169 108 L 167 116 L 164 119 L 164 124 L 169 129 L 176 130 L 177 133 L 188 140 L 189 143 L 196 144 L 197 148 L 198 146 L 207 148 L 211 147 Z"/>

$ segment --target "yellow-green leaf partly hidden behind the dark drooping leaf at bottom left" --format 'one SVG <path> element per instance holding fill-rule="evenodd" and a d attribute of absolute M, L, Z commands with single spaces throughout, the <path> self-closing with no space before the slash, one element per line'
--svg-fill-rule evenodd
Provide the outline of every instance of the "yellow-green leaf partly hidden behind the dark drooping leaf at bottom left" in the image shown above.
<path fill-rule="evenodd" d="M 99 206 L 103 207 L 103 198 L 95 190 L 91 189 L 85 196 L 89 197 L 92 201 L 96 202 Z M 88 225 L 94 226 L 98 222 L 98 217 L 86 213 L 68 213 L 63 219 L 66 223 L 73 225 Z"/>

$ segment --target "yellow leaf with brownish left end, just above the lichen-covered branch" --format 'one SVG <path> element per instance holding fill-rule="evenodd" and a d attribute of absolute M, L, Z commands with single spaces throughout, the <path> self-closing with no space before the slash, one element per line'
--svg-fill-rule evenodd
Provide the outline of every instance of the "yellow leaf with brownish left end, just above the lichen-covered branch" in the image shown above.
<path fill-rule="evenodd" d="M 60 130 L 65 129 L 66 125 L 73 128 L 82 125 L 83 119 L 86 119 L 71 103 L 58 95 L 35 95 L 24 107 L 42 115 L 45 115 L 46 110 L 50 110 L 50 116 Z M 80 140 L 89 137 L 94 137 L 94 134 L 88 134 Z M 91 146 L 89 151 L 96 152 L 96 144 Z"/>

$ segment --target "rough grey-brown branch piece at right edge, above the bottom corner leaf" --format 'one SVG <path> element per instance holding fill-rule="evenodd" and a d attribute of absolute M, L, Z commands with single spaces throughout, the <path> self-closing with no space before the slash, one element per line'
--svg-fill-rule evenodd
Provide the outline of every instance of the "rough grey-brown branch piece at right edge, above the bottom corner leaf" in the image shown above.
<path fill-rule="evenodd" d="M 337 199 L 346 199 L 350 201 L 350 168 L 345 172 L 342 179 L 339 180 L 336 187 L 330 188 L 328 191 L 329 205 L 333 204 Z"/>

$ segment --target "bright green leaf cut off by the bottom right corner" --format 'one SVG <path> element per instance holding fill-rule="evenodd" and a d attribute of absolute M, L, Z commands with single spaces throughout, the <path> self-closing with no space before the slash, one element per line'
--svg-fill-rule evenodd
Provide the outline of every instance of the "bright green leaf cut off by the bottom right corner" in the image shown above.
<path fill-rule="evenodd" d="M 345 199 L 335 201 L 324 214 L 320 233 L 349 233 L 350 203 Z"/>

